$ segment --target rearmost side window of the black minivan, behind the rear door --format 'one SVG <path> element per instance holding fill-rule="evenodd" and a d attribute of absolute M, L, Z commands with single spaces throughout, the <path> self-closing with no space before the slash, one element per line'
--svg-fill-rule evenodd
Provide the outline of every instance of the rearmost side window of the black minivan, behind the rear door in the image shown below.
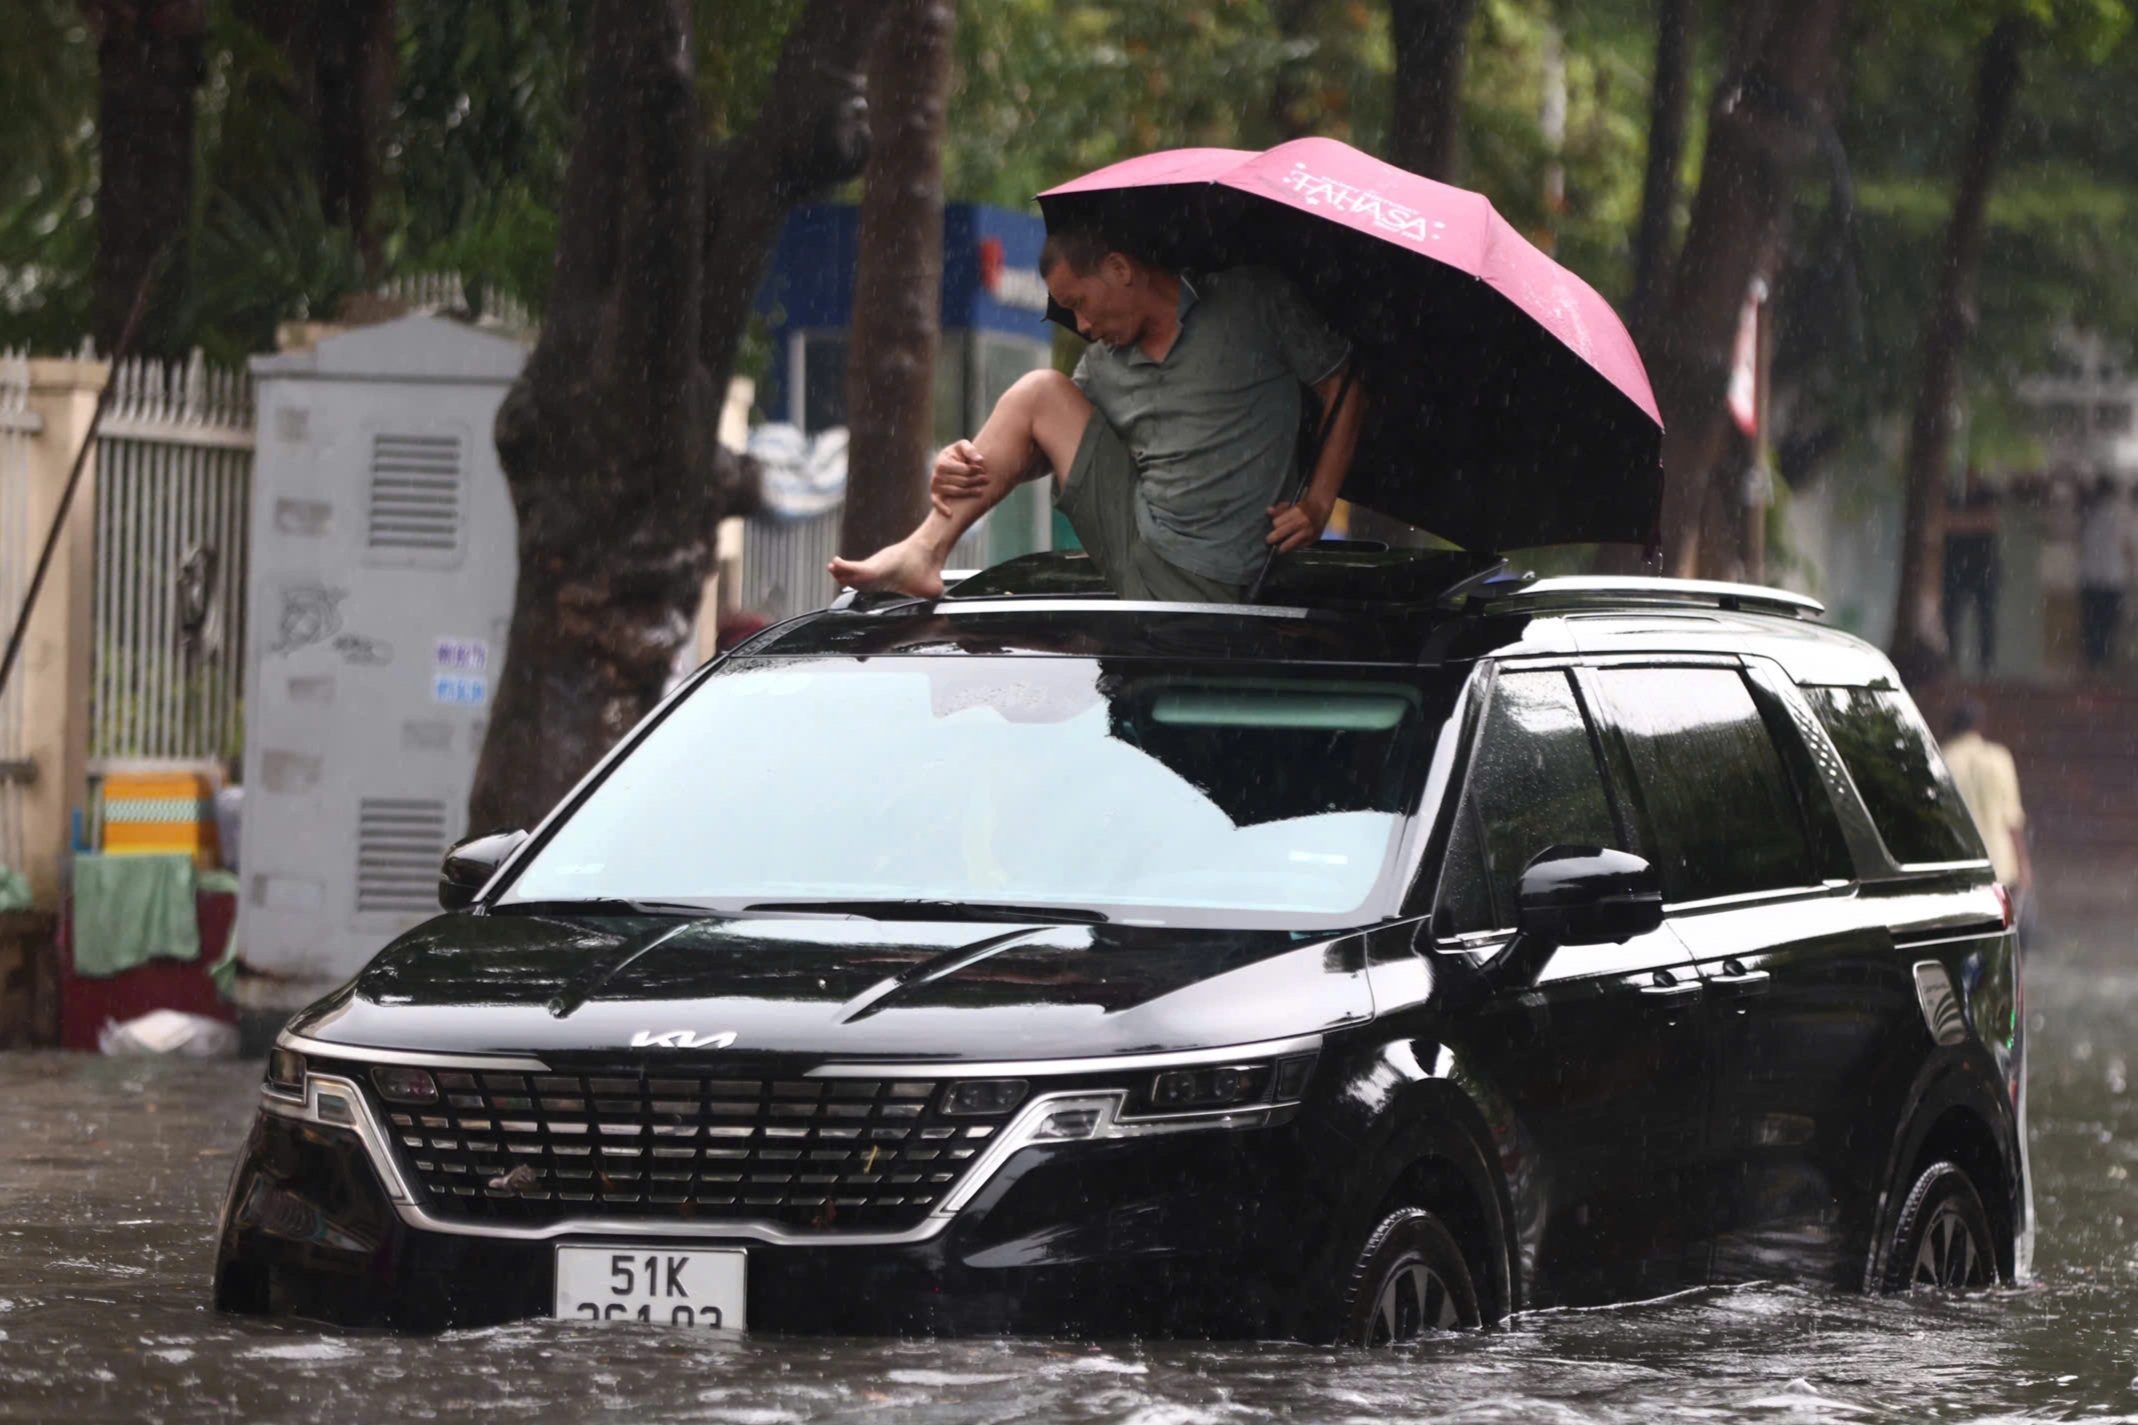
<path fill-rule="evenodd" d="M 1982 842 L 1931 731 L 1916 709 L 1881 688 L 1804 688 L 1886 850 L 1901 865 L 1980 861 Z"/>

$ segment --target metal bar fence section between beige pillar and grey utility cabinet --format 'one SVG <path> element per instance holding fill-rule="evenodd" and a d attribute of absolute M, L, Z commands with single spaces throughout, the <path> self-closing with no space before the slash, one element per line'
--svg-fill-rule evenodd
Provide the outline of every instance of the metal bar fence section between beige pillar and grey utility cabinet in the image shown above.
<path fill-rule="evenodd" d="M 126 361 L 96 442 L 90 758 L 233 756 L 242 737 L 252 378 Z"/>

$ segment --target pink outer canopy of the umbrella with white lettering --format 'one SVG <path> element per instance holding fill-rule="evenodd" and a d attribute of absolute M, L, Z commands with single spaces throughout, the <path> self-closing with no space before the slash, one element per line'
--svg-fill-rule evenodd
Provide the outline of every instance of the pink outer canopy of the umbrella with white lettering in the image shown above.
<path fill-rule="evenodd" d="M 1039 197 L 1176 184 L 1238 188 L 1482 278 L 1651 421 L 1663 421 L 1633 338 L 1593 286 L 1516 233 L 1484 194 L 1420 177 L 1336 139 L 1293 139 L 1261 154 L 1167 150 L 1125 158 Z"/>

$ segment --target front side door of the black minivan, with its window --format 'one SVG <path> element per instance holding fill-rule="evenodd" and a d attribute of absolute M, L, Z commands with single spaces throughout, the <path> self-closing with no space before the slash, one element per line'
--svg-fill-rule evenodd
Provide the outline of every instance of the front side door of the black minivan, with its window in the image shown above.
<path fill-rule="evenodd" d="M 1565 669 L 1503 671 L 1447 837 L 1435 936 L 1490 964 L 1516 880 L 1546 846 L 1625 846 L 1595 733 Z M 1490 1105 L 1514 1188 L 1531 1303 L 1659 1295 L 1704 1269 L 1685 1211 L 1704 1115 L 1700 981 L 1657 929 L 1561 946 L 1450 1030 L 1456 1072 Z"/>

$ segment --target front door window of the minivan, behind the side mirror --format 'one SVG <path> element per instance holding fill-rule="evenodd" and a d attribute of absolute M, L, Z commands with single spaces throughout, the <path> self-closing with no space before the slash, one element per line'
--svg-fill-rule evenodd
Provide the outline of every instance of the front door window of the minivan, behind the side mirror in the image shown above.
<path fill-rule="evenodd" d="M 1441 867 L 1435 931 L 1514 925 L 1522 867 L 1546 846 L 1616 846 L 1589 722 L 1561 671 L 1503 673 L 1492 688 Z"/>

